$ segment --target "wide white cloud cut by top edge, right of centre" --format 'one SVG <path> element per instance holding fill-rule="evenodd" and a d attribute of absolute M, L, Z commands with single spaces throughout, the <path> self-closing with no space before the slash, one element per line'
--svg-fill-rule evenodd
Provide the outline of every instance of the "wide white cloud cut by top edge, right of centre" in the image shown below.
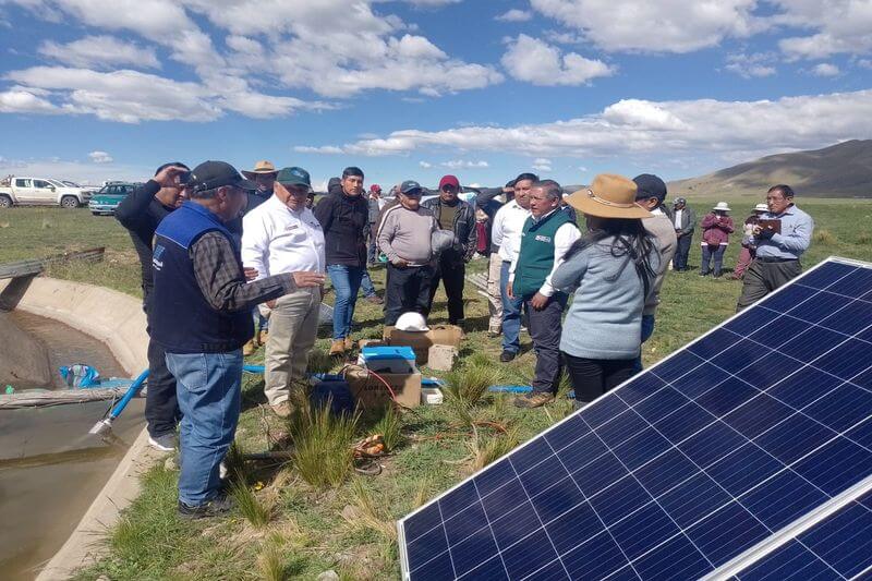
<path fill-rule="evenodd" d="M 812 1 L 812 0 L 808 0 Z M 760 29 L 756 0 L 531 0 L 533 9 L 610 51 L 690 52 Z M 645 31 L 649 34 L 645 34 Z"/>

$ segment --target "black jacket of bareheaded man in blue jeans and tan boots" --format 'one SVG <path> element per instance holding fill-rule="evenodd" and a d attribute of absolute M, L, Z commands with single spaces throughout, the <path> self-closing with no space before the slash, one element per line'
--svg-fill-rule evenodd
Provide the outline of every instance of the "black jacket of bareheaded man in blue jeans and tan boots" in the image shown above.
<path fill-rule="evenodd" d="M 364 232 L 370 226 L 370 209 L 363 195 L 349 196 L 342 187 L 331 187 L 315 206 L 315 218 L 324 230 L 327 265 L 355 268 L 366 266 Z"/>

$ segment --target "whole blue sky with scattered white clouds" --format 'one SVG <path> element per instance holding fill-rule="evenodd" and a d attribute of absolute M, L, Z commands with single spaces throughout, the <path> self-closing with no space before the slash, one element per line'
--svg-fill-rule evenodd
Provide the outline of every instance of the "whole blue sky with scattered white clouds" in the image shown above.
<path fill-rule="evenodd" d="M 0 0 L 0 174 L 694 177 L 872 137 L 872 0 Z"/>

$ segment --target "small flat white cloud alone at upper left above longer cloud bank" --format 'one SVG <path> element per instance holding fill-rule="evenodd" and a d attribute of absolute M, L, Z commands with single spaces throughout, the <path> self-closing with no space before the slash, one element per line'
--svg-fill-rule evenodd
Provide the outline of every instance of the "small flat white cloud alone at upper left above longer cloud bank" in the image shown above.
<path fill-rule="evenodd" d="M 64 64 L 83 69 L 102 69 L 116 65 L 160 68 L 154 47 L 141 47 L 112 36 L 86 36 L 65 45 L 47 40 L 39 47 L 39 53 Z"/>

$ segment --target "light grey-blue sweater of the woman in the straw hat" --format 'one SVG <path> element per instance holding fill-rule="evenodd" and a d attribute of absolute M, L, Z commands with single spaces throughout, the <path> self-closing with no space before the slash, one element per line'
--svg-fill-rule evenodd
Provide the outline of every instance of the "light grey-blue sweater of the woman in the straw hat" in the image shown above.
<path fill-rule="evenodd" d="M 614 277 L 626 257 L 610 254 L 614 238 L 588 246 L 560 265 L 552 285 L 572 292 L 560 350 L 577 358 L 627 360 L 639 356 L 642 341 L 642 308 L 645 290 L 632 263 L 616 280 Z M 654 252 L 651 265 L 659 267 Z M 653 282 L 653 281 L 652 281 Z"/>

